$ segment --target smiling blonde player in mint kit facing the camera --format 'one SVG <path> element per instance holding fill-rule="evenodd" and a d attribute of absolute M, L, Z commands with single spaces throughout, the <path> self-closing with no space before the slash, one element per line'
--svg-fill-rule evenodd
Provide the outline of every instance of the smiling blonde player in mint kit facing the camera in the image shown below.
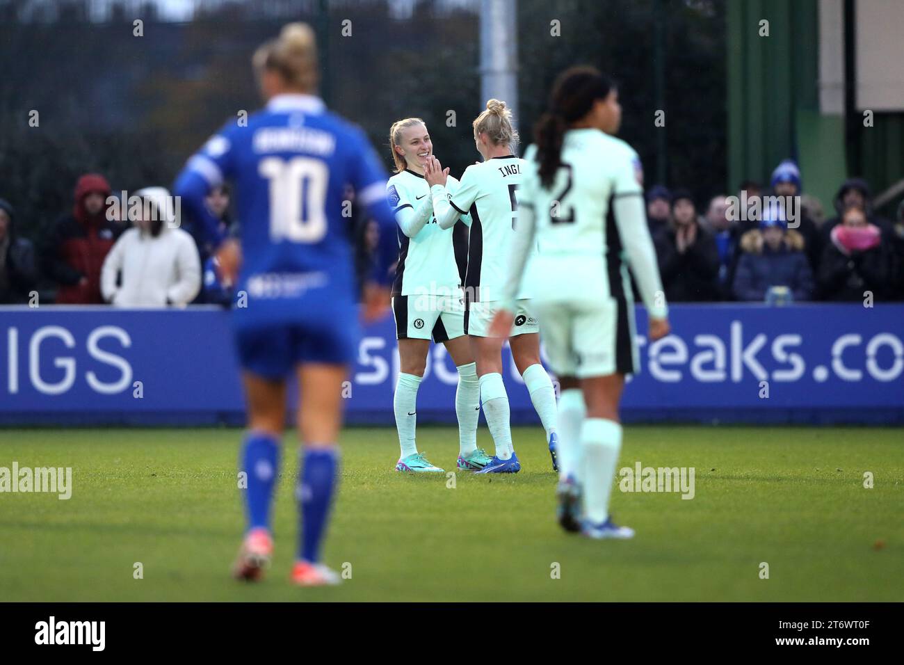
<path fill-rule="evenodd" d="M 433 142 L 424 121 L 406 118 L 390 129 L 396 174 L 386 196 L 398 222 L 399 263 L 392 284 L 392 313 L 399 340 L 400 373 L 393 407 L 399 431 L 396 470 L 442 473 L 415 440 L 420 382 L 427 369 L 432 338 L 443 344 L 458 371 L 455 410 L 458 419 L 457 468 L 479 471 L 490 458 L 477 448 L 480 385 L 465 331 L 462 284 L 467 263 L 466 215 L 439 226 L 433 214 L 424 167 L 433 158 Z M 458 181 L 448 176 L 453 191 Z"/>

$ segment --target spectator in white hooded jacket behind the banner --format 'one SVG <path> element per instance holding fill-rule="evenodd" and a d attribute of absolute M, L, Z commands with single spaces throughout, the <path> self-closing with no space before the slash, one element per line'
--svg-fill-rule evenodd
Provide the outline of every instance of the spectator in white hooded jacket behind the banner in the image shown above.
<path fill-rule="evenodd" d="M 108 253 L 100 272 L 101 293 L 117 307 L 184 307 L 201 289 L 201 260 L 193 238 L 174 228 L 173 198 L 164 187 L 146 187 L 136 195 L 142 199 L 142 214 Z"/>

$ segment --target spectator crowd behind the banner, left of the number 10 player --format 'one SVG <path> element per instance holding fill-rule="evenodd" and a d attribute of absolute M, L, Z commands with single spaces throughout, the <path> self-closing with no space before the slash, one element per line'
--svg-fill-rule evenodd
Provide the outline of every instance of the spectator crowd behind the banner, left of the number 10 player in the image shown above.
<path fill-rule="evenodd" d="M 207 204 L 230 231 L 228 188 L 214 189 Z M 122 201 L 104 176 L 86 174 L 75 185 L 71 211 L 38 242 L 21 237 L 17 224 L 14 207 L 0 199 L 0 304 L 231 302 L 216 279 L 210 248 L 196 242 L 191 224 L 176 222 L 174 199 L 164 187 L 146 187 Z"/>

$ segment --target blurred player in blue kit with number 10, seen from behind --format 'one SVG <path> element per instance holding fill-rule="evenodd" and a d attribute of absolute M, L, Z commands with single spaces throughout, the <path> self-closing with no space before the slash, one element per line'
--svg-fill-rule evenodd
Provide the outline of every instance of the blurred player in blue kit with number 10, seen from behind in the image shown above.
<path fill-rule="evenodd" d="M 254 53 L 267 101 L 247 126 L 231 120 L 184 167 L 174 187 L 184 210 L 216 249 L 223 279 L 247 299 L 232 325 L 248 400 L 240 457 L 247 478 L 248 529 L 233 573 L 258 580 L 273 551 L 271 506 L 286 419 L 287 375 L 297 373 L 298 432 L 303 444 L 297 483 L 300 534 L 291 581 L 338 584 L 320 561 L 337 478 L 342 385 L 357 353 L 353 223 L 343 215 L 344 188 L 380 224 L 372 274 L 363 287 L 363 318 L 390 303 L 396 260 L 395 219 L 386 174 L 363 131 L 325 109 L 314 95 L 317 54 L 306 24 L 287 24 Z M 223 239 L 204 205 L 212 187 L 235 186 L 240 242 Z M 241 306 L 244 304 L 245 306 Z"/>

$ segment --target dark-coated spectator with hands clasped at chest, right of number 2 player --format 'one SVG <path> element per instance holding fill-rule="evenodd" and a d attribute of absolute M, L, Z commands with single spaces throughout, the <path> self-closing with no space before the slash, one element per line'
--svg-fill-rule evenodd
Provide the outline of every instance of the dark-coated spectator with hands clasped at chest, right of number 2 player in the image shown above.
<path fill-rule="evenodd" d="M 697 218 L 686 189 L 672 193 L 672 226 L 656 243 L 665 298 L 675 302 L 720 299 L 719 250 L 712 233 Z"/>

